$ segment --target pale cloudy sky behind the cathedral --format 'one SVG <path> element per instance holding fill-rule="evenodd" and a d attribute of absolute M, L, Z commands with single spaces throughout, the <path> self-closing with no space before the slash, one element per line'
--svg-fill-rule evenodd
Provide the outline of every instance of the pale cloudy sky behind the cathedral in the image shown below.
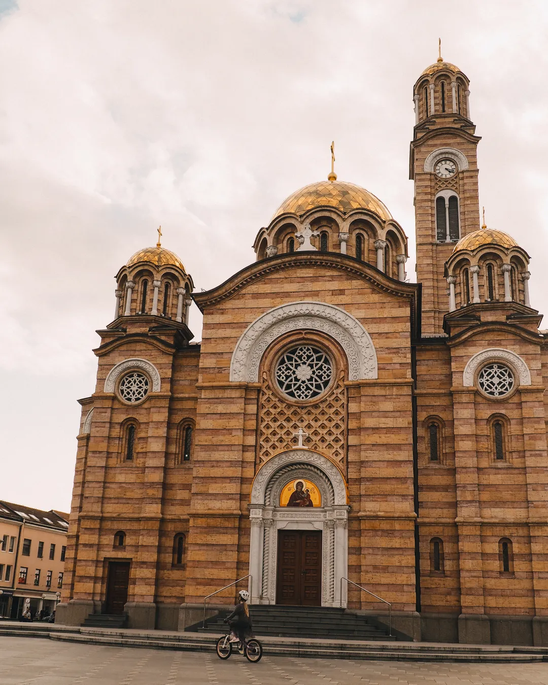
<path fill-rule="evenodd" d="M 543 312 L 544 0 L 0 0 L 0 499 L 69 510 L 95 331 L 158 225 L 208 290 L 327 177 L 335 140 L 338 179 L 408 234 L 413 277 L 412 86 L 438 37 L 471 82 L 487 224 L 532 255 Z"/>

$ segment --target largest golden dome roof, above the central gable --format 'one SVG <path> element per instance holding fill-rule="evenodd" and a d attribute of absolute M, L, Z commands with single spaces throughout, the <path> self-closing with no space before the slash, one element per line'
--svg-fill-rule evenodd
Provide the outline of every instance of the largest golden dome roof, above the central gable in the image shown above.
<path fill-rule="evenodd" d="M 366 209 L 378 214 L 383 221 L 392 219 L 384 204 L 369 190 L 344 181 L 319 181 L 295 190 L 277 208 L 272 220 L 286 212 L 300 215 L 315 207 L 325 206 L 336 207 L 345 214 Z"/>

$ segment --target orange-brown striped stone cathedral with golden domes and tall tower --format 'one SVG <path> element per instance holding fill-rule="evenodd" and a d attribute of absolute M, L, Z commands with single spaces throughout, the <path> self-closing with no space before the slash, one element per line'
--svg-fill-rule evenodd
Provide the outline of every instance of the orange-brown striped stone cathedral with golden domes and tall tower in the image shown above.
<path fill-rule="evenodd" d="M 184 630 L 247 577 L 253 604 L 382 619 L 358 585 L 410 639 L 548 645 L 530 257 L 480 225 L 469 79 L 440 57 L 413 96 L 416 283 L 402 227 L 333 169 L 212 290 L 160 239 L 121 267 L 79 401 L 58 621 Z"/>

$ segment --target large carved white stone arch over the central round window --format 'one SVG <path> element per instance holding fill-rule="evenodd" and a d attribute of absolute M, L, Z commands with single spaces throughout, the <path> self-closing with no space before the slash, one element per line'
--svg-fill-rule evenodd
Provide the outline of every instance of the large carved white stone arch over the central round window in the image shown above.
<path fill-rule="evenodd" d="M 291 302 L 271 309 L 245 329 L 230 361 L 230 380 L 256 383 L 262 355 L 276 338 L 292 330 L 312 329 L 331 336 L 345 351 L 349 380 L 377 378 L 377 353 L 354 316 L 325 302 Z"/>

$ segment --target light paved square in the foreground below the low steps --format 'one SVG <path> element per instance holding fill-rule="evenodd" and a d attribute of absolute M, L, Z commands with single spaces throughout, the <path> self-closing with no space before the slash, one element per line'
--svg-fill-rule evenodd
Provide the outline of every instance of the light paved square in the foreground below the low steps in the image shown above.
<path fill-rule="evenodd" d="M 548 685 L 548 663 L 430 664 L 162 651 L 0 638 L 1 685 Z"/>

